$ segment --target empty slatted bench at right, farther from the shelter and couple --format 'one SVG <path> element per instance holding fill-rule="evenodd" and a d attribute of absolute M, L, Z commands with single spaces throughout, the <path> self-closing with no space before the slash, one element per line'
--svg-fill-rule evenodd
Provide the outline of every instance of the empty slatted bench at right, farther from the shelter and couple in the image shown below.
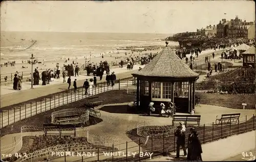
<path fill-rule="evenodd" d="M 217 119 L 215 123 L 217 125 L 228 124 L 228 123 L 236 124 L 239 121 L 239 117 L 240 117 L 240 113 L 222 114 L 220 119 L 218 119 L 218 115 L 217 115 L 216 117 Z"/>

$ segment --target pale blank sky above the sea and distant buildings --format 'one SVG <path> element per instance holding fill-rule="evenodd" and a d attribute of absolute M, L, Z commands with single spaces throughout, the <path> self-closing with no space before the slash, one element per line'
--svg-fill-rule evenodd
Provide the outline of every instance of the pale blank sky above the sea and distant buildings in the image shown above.
<path fill-rule="evenodd" d="M 5 1 L 1 31 L 179 33 L 255 20 L 254 1 Z M 226 14 L 224 14 L 226 13 Z"/>

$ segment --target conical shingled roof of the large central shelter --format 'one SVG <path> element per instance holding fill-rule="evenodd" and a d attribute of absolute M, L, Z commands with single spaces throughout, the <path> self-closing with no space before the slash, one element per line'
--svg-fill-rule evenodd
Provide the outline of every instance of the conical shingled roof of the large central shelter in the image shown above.
<path fill-rule="evenodd" d="M 132 74 L 145 77 L 196 78 L 199 76 L 170 47 L 165 47 L 142 70 Z"/>

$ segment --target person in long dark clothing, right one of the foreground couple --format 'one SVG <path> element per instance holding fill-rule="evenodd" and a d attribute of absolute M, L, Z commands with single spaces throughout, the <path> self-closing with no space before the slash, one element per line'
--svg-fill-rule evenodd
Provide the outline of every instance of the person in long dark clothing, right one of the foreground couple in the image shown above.
<path fill-rule="evenodd" d="M 188 161 L 202 161 L 202 146 L 198 138 L 198 133 L 195 128 L 190 128 L 190 134 L 188 135 Z"/>

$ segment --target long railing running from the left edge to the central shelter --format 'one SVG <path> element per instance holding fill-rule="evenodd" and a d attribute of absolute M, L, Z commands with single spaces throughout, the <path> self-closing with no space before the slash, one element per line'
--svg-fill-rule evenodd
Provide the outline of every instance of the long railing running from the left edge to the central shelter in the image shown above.
<path fill-rule="evenodd" d="M 127 89 L 130 86 L 134 87 L 134 85 L 132 85 L 133 82 L 134 80 L 131 77 L 126 80 L 116 80 L 114 86 L 108 86 L 107 82 L 101 82 L 96 86 L 90 86 L 88 93 L 90 95 L 97 95 L 105 91 Z M 57 92 L 56 94 L 39 101 L 25 103 L 24 105 L 15 107 L 1 108 L 0 128 L 33 117 L 34 115 L 46 112 L 56 107 L 90 97 L 89 95 L 84 95 L 84 93 L 84 88 L 79 87 L 77 90 L 70 89 Z"/>

